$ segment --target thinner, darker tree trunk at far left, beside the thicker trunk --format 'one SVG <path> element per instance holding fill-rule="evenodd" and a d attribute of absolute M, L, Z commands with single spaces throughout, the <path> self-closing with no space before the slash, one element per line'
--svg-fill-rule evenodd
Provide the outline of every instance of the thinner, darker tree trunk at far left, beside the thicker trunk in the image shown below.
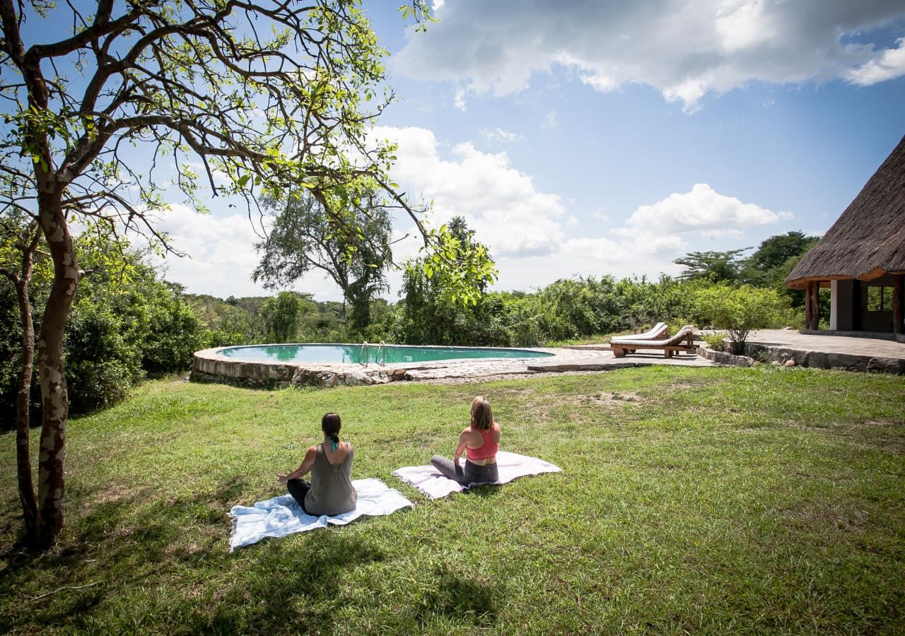
<path fill-rule="evenodd" d="M 32 306 L 28 299 L 28 281 L 31 278 L 31 253 L 23 257 L 22 278 L 16 281 L 15 292 L 19 300 L 19 316 L 22 319 L 22 369 L 19 372 L 19 392 L 15 398 L 15 463 L 19 482 L 19 500 L 25 523 L 25 540 L 34 543 L 37 538 L 38 505 L 34 498 L 32 479 L 32 453 L 30 448 L 29 398 L 32 394 L 34 365 L 34 324 Z"/>

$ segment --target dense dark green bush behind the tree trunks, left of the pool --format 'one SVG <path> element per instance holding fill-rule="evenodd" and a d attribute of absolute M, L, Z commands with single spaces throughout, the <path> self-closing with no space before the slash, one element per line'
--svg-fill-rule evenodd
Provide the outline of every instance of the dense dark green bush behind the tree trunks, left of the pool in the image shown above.
<path fill-rule="evenodd" d="M 140 253 L 95 236 L 76 239 L 85 271 L 66 325 L 64 352 L 70 410 L 86 413 L 118 402 L 146 375 L 186 370 L 192 353 L 212 333 L 186 303 L 182 288 L 161 280 Z M 33 279 L 35 333 L 40 328 L 48 277 Z M 22 367 L 21 318 L 12 284 L 0 289 L 0 412 L 12 427 Z M 37 400 L 35 365 L 33 403 Z M 37 413 L 32 421 L 37 423 Z"/>

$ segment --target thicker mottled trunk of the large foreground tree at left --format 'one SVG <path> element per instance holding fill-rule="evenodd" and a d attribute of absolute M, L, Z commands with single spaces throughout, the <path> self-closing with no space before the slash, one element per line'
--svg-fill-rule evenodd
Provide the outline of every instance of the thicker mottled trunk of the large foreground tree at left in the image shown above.
<path fill-rule="evenodd" d="M 38 335 L 38 379 L 43 417 L 38 457 L 37 541 L 39 546 L 49 546 L 63 527 L 63 462 L 69 395 L 62 346 L 66 319 L 79 282 L 79 269 L 62 214 L 60 189 L 49 187 L 44 190 L 39 185 L 38 209 L 41 229 L 53 261 L 53 284 Z"/>

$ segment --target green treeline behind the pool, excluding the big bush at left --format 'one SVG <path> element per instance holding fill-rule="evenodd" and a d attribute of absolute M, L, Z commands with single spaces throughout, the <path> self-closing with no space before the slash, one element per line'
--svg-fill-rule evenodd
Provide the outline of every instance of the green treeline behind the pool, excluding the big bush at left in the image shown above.
<path fill-rule="evenodd" d="M 780 234 L 746 250 L 691 252 L 676 262 L 681 277 L 658 280 L 613 276 L 557 280 L 533 291 L 488 292 L 473 305 L 443 293 L 443 281 L 424 271 L 405 271 L 400 298 L 371 301 L 367 327 L 351 328 L 341 303 L 317 302 L 283 291 L 268 299 L 186 297 L 211 330 L 215 345 L 262 342 L 376 342 L 412 345 L 540 346 L 649 327 L 705 327 L 712 316 L 696 301 L 713 285 L 772 290 L 785 304 L 787 324 L 803 320 L 804 297 L 787 290 L 789 271 L 816 241 L 803 233 Z"/>

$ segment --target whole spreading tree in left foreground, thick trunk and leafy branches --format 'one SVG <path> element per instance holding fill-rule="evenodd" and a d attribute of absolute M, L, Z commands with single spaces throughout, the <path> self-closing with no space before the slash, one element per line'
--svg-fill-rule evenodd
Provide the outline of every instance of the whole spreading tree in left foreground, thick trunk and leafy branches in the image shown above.
<path fill-rule="evenodd" d="M 407 11 L 418 18 L 424 7 L 414 0 Z M 159 185 L 172 182 L 201 211 L 203 182 L 213 195 L 243 197 L 250 211 L 258 195 L 300 186 L 354 232 L 346 211 L 357 193 L 379 192 L 411 217 L 457 294 L 479 293 L 470 272 L 459 272 L 486 262 L 450 258 L 443 233 L 425 227 L 424 211 L 389 182 L 392 145 L 367 143 L 393 95 L 380 94 L 385 52 L 356 0 L 0 0 L 0 20 L 0 214 L 39 223 L 54 271 L 37 355 L 48 405 L 39 543 L 52 543 L 63 524 L 74 219 L 114 220 L 167 246 L 156 214 L 169 200 Z M 57 24 L 69 32 L 54 33 Z"/>

